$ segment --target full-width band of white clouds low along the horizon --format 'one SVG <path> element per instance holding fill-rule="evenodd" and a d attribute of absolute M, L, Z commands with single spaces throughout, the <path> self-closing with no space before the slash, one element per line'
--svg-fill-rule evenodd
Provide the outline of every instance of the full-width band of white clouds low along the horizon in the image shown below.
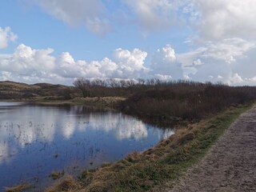
<path fill-rule="evenodd" d="M 87 62 L 76 61 L 69 52 L 54 57 L 53 49 L 35 50 L 21 44 L 13 54 L 0 54 L 0 80 L 71 85 L 79 77 L 159 78 L 253 85 L 255 66 L 251 55 L 256 55 L 255 51 L 254 43 L 240 38 L 212 42 L 185 54 L 175 54 L 167 44 L 154 52 L 146 67 L 147 53 L 137 48 L 118 48 L 110 58 Z"/>

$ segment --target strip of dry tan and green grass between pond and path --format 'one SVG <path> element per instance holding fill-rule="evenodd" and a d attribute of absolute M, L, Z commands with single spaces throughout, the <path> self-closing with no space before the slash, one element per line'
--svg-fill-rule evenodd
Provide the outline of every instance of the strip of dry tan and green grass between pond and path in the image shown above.
<path fill-rule="evenodd" d="M 142 154 L 134 152 L 97 170 L 85 170 L 76 180 L 66 178 L 47 191 L 146 191 L 178 178 L 206 154 L 227 127 L 252 105 L 233 106 L 189 126 Z M 71 183 L 70 185 L 68 183 Z"/>

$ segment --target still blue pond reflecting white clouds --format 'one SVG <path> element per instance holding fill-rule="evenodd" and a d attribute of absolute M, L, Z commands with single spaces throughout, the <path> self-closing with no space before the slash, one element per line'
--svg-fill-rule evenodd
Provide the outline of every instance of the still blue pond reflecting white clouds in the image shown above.
<path fill-rule="evenodd" d="M 52 182 L 53 170 L 79 174 L 170 134 L 113 111 L 0 102 L 0 191 L 19 182 L 43 187 Z"/>

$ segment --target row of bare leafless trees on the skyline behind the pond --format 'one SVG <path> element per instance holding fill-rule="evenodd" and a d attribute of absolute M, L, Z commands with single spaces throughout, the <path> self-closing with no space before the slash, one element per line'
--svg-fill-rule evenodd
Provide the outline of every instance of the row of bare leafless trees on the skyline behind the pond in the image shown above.
<path fill-rule="evenodd" d="M 202 85 L 200 82 L 190 81 L 161 81 L 158 78 L 150 79 L 88 79 L 88 78 L 77 78 L 74 81 L 74 87 L 80 90 L 82 97 L 129 97 L 134 93 L 138 93 L 142 90 L 161 90 L 169 86 L 179 85 Z"/>

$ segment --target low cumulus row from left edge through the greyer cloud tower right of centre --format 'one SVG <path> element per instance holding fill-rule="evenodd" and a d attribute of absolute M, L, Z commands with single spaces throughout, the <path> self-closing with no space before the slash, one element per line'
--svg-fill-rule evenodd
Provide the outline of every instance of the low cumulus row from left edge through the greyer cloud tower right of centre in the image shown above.
<path fill-rule="evenodd" d="M 166 45 L 155 51 L 146 67 L 146 51 L 118 48 L 110 58 L 76 61 L 69 52 L 54 57 L 53 49 L 36 50 L 24 44 L 13 54 L 0 54 L 0 80 L 71 84 L 74 78 L 183 78 L 174 49 Z"/>

